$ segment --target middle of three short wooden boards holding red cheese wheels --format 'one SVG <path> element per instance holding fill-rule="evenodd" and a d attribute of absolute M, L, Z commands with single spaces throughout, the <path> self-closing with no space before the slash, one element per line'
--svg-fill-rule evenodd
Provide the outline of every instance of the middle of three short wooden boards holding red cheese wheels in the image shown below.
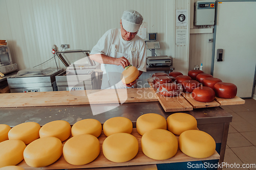
<path fill-rule="evenodd" d="M 181 94 L 189 103 L 193 106 L 193 108 L 206 108 L 206 107 L 217 107 L 220 106 L 220 104 L 216 101 L 212 102 L 198 102 L 195 99 L 192 98 L 192 93 L 182 93 Z"/>

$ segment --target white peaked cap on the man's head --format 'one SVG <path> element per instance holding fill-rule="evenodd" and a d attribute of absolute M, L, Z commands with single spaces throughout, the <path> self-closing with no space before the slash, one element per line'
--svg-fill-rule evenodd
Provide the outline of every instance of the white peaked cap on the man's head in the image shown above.
<path fill-rule="evenodd" d="M 140 29 L 140 25 L 143 21 L 143 17 L 134 10 L 126 10 L 122 15 L 122 25 L 123 29 L 135 33 Z"/>

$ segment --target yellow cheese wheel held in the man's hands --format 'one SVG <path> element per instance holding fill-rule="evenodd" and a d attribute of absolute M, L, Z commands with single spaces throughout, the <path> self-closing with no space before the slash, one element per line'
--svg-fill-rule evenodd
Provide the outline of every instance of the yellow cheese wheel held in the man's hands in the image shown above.
<path fill-rule="evenodd" d="M 124 84 L 130 84 L 139 77 L 139 70 L 135 66 L 123 70 L 121 80 Z"/>

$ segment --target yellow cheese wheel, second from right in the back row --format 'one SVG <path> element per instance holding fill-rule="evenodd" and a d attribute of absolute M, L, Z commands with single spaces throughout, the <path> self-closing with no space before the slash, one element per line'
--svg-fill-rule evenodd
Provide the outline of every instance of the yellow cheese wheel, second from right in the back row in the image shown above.
<path fill-rule="evenodd" d="M 156 113 L 147 113 L 139 116 L 136 122 L 136 129 L 140 135 L 153 129 L 166 130 L 167 123 L 163 116 Z"/>

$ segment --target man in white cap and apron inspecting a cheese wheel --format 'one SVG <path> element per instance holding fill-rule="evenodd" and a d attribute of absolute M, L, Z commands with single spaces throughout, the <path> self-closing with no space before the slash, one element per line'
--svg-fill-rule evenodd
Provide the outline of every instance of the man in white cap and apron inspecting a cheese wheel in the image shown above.
<path fill-rule="evenodd" d="M 139 76 L 146 71 L 145 42 L 136 35 L 142 21 L 143 17 L 137 11 L 124 11 L 120 29 L 107 31 L 93 47 L 90 58 L 101 63 L 103 71 L 101 89 L 136 87 L 136 80 L 130 84 L 122 83 L 120 77 L 125 66 L 137 67 Z"/>

